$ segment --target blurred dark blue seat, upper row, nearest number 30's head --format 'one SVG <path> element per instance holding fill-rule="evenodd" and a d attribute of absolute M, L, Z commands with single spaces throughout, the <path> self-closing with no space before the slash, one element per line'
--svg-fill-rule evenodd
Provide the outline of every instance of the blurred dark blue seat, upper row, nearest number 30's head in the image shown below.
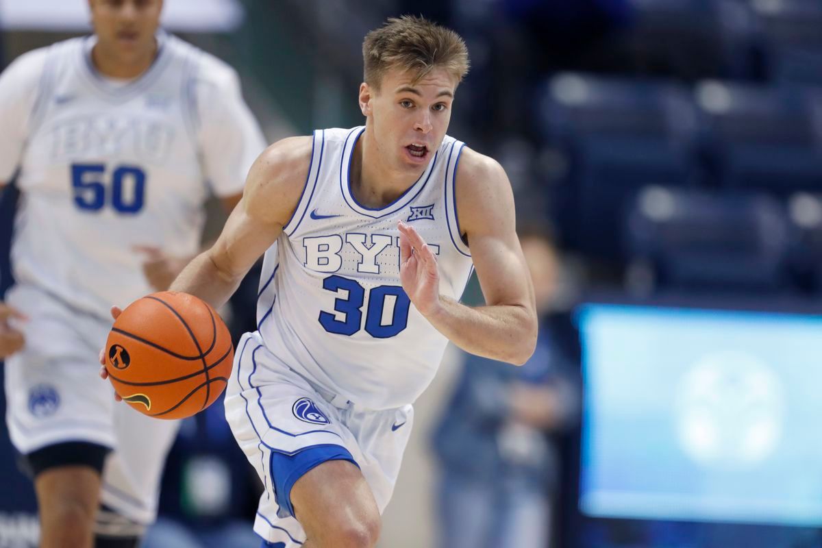
<path fill-rule="evenodd" d="M 694 109 L 677 85 L 562 74 L 547 82 L 540 115 L 569 164 L 552 216 L 594 256 L 621 259 L 623 206 L 640 187 L 693 178 Z"/>

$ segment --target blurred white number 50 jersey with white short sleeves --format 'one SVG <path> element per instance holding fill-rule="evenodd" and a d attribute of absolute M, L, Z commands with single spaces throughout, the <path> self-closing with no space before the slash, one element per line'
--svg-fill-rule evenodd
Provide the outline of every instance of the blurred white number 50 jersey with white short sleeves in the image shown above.
<path fill-rule="evenodd" d="M 2 145 L 0 173 L 19 165 L 16 282 L 108 318 L 109 306 L 152 291 L 134 247 L 195 254 L 205 199 L 242 191 L 265 143 L 223 62 L 160 33 L 148 71 L 110 81 L 91 62 L 94 40 L 19 60 L 38 65 L 36 98 L 25 128 L 12 132 L 25 140 Z M 16 80 L 2 83 L 5 94 Z"/>

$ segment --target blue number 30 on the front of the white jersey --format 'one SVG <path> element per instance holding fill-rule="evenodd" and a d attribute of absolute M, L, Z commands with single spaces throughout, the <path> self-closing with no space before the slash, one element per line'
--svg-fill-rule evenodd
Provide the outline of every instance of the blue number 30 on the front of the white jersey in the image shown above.
<path fill-rule="evenodd" d="M 337 298 L 334 310 L 345 315 L 345 320 L 337 320 L 330 312 L 320 312 L 320 323 L 330 333 L 353 335 L 363 325 L 363 303 L 365 289 L 356 280 L 342 276 L 329 276 L 322 280 L 322 287 L 328 291 L 349 293 L 348 298 Z M 393 297 L 391 299 L 390 297 Z M 386 309 L 386 303 L 394 301 L 393 311 Z M 381 285 L 368 293 L 368 309 L 365 315 L 365 330 L 375 338 L 389 338 L 405 329 L 409 322 L 411 301 L 403 288 L 398 285 Z M 385 316 L 389 317 L 385 317 Z"/>

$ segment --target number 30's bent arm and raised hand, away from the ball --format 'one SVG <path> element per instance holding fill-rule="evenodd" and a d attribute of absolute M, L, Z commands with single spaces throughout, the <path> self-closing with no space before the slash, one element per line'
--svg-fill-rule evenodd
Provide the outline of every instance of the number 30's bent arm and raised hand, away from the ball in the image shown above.
<path fill-rule="evenodd" d="M 411 302 L 466 352 L 522 365 L 537 341 L 533 283 L 515 230 L 514 195 L 493 159 L 466 148 L 456 175 L 459 224 L 486 306 L 465 306 L 439 292 L 436 256 L 400 223 L 400 277 Z"/>

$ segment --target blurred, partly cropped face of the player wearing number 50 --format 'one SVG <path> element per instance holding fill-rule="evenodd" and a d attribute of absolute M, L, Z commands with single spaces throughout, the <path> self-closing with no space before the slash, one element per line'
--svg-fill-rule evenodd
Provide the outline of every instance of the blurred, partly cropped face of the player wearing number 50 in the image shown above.
<path fill-rule="evenodd" d="M 155 51 L 155 32 L 163 0 L 89 0 L 98 44 L 123 62 Z"/>

